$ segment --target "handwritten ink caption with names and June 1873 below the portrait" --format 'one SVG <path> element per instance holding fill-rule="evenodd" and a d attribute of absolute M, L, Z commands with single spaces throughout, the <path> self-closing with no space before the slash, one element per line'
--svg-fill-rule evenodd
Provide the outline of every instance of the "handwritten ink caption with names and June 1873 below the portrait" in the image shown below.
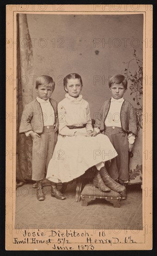
<path fill-rule="evenodd" d="M 124 236 L 123 238 L 113 237 L 107 238 L 105 231 L 99 231 L 96 238 L 94 234 L 89 234 L 86 230 L 81 232 L 75 230 L 47 230 L 42 232 L 36 230 L 34 232 L 23 231 L 23 239 L 13 237 L 14 244 L 47 244 L 52 250 L 94 250 L 96 244 L 110 244 L 116 243 L 137 243 L 132 236 Z M 46 236 L 46 238 L 44 238 Z M 79 239 L 78 239 L 79 238 Z"/>

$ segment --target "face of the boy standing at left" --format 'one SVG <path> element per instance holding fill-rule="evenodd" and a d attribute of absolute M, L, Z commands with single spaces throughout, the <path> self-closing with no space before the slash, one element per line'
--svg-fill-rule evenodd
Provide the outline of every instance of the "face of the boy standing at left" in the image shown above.
<path fill-rule="evenodd" d="M 45 84 L 45 85 L 39 85 L 36 91 L 37 91 L 38 97 L 46 101 L 50 99 L 50 96 L 54 91 L 54 87 L 51 83 Z"/>

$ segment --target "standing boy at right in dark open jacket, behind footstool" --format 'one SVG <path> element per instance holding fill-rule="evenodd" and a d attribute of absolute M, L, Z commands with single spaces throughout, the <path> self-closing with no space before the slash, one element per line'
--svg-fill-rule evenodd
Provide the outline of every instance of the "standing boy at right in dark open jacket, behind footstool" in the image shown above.
<path fill-rule="evenodd" d="M 137 135 L 137 118 L 132 104 L 123 98 L 127 79 L 115 74 L 109 79 L 112 98 L 104 102 L 96 118 L 93 136 L 105 131 L 118 156 L 111 160 L 107 171 L 116 182 L 125 185 L 129 179 L 129 152 Z"/>

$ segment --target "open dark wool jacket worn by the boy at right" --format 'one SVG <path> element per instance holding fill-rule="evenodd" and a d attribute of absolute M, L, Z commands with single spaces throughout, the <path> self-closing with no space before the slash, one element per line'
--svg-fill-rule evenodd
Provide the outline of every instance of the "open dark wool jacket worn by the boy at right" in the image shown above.
<path fill-rule="evenodd" d="M 105 130 L 105 119 L 107 117 L 109 108 L 111 104 L 111 99 L 104 102 L 102 105 L 99 116 L 95 120 L 95 128 L 100 128 L 100 132 Z M 137 117 L 132 104 L 129 101 L 124 101 L 120 111 L 120 121 L 122 129 L 128 134 L 132 132 L 137 135 Z"/>

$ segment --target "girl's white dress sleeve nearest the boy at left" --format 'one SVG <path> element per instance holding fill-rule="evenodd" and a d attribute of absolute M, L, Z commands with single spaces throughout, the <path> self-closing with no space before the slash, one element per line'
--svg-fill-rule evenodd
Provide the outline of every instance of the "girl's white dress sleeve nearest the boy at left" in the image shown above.
<path fill-rule="evenodd" d="M 75 130 L 69 129 L 66 122 L 66 110 L 65 108 L 58 104 L 58 120 L 59 120 L 59 134 L 65 136 L 74 136 Z"/>

